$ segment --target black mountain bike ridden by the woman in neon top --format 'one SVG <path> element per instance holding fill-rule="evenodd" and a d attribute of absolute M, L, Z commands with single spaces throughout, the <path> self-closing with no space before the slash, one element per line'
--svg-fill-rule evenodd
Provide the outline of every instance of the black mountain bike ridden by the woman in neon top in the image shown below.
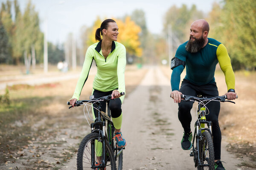
<path fill-rule="evenodd" d="M 122 92 L 121 96 L 125 93 Z M 114 126 L 111 121 L 111 111 L 109 109 L 109 101 L 111 95 L 103 96 L 98 99 L 94 99 L 94 96 L 90 96 L 90 100 L 76 101 L 75 106 L 84 105 L 94 108 L 92 104 L 96 104 L 97 117 L 90 124 L 91 133 L 85 136 L 78 149 L 77 153 L 77 169 L 96 169 L 102 168 L 103 170 L 122 170 L 123 150 L 125 147 L 117 147 L 114 139 Z M 107 103 L 108 113 L 102 112 L 100 102 Z M 70 102 L 67 102 L 70 105 Z M 72 108 L 70 106 L 69 108 Z M 90 110 L 89 110 L 90 111 Z M 87 112 L 89 115 L 87 108 Z M 90 115 L 89 115 L 90 117 Z M 87 119 L 87 118 L 86 118 Z"/>

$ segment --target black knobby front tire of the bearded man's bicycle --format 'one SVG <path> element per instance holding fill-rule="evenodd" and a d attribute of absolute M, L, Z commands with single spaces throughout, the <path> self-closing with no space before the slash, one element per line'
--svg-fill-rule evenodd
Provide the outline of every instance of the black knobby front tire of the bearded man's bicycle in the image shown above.
<path fill-rule="evenodd" d="M 200 142 L 199 159 L 204 166 L 197 166 L 198 170 L 214 170 L 214 148 L 212 136 L 208 131 L 202 133 L 202 140 Z M 206 165 L 207 164 L 207 165 Z"/>

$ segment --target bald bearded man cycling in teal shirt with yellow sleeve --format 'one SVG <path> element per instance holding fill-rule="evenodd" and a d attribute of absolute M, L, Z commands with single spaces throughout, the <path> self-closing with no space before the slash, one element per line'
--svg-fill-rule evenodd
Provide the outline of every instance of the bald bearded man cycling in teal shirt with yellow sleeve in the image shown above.
<path fill-rule="evenodd" d="M 191 24 L 189 41 L 181 44 L 172 59 L 171 97 L 178 103 L 178 118 L 184 129 L 181 147 L 189 150 L 192 147 L 192 132 L 190 123 L 192 116 L 190 110 L 193 102 L 181 102 L 181 94 L 197 96 L 202 94 L 206 97 L 218 96 L 214 72 L 217 63 L 224 72 L 227 84 L 227 99 L 236 99 L 235 75 L 230 62 L 227 49 L 221 42 L 207 38 L 209 24 L 206 20 L 196 20 Z M 180 74 L 186 66 L 186 77 L 181 86 Z M 212 121 L 212 136 L 215 153 L 215 170 L 224 170 L 221 163 L 221 130 L 218 124 L 220 111 L 219 102 L 207 104 L 210 114 L 206 115 L 207 120 Z"/>

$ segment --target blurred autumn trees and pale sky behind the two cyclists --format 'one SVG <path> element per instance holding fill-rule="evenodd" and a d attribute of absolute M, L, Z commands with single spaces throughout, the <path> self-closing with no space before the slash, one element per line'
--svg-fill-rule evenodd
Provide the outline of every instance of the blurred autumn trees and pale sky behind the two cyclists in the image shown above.
<path fill-rule="evenodd" d="M 25 65 L 26 74 L 36 65 L 47 72 L 58 62 L 76 69 L 107 18 L 119 26 L 128 64 L 167 64 L 189 39 L 192 21 L 203 18 L 209 37 L 227 47 L 235 70 L 256 68 L 254 0 L 1 0 L 0 64 Z"/>

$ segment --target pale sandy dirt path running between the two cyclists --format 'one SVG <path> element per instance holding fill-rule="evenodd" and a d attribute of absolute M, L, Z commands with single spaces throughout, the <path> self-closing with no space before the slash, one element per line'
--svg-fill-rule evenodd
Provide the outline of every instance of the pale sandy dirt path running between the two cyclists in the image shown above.
<path fill-rule="evenodd" d="M 194 170 L 189 151 L 180 147 L 183 135 L 177 118 L 177 104 L 169 97 L 167 79 L 158 67 L 149 69 L 140 86 L 123 103 L 122 132 L 128 142 L 124 170 Z M 195 122 L 193 116 L 192 122 Z M 193 128 L 192 128 L 193 130 Z M 222 160 L 227 170 L 241 163 L 222 144 Z"/>

